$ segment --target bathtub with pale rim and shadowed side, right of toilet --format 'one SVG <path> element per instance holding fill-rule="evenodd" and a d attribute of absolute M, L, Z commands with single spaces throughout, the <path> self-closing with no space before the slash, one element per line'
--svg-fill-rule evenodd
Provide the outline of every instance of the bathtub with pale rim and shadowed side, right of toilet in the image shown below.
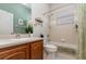
<path fill-rule="evenodd" d="M 58 47 L 59 52 L 65 52 L 66 54 L 74 56 L 76 56 L 77 54 L 77 48 L 78 48 L 77 44 L 66 42 L 52 42 L 52 41 L 50 41 L 50 43 L 56 44 Z"/>

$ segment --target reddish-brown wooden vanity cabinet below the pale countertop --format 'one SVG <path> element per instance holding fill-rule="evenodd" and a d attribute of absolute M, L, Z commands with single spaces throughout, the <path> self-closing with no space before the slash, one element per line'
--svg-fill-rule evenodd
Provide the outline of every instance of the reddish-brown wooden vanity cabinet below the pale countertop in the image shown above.
<path fill-rule="evenodd" d="M 2 48 L 0 60 L 42 60 L 42 41 Z"/>

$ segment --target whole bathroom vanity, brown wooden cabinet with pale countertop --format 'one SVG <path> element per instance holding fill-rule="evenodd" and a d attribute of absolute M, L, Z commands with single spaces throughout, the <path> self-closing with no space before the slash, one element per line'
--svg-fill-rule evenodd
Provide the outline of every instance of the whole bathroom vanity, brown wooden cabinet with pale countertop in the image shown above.
<path fill-rule="evenodd" d="M 0 60 L 42 60 L 42 39 L 22 38 L 0 40 Z"/>

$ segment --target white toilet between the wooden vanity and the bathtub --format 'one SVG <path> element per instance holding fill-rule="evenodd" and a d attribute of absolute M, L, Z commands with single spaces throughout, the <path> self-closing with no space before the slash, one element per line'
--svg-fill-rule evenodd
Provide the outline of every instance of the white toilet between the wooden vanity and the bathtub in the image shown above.
<path fill-rule="evenodd" d="M 47 53 L 47 55 L 50 59 L 56 59 L 57 57 L 58 47 L 52 44 L 52 43 L 53 42 L 50 41 L 48 37 L 44 38 L 44 49 L 45 49 L 45 52 Z"/>

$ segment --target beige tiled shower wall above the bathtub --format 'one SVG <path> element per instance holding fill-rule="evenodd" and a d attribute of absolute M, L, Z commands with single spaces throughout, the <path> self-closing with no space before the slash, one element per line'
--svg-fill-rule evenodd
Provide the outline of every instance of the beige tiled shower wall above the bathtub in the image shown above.
<path fill-rule="evenodd" d="M 62 39 L 64 39 L 65 43 L 78 43 L 78 31 L 76 31 L 75 23 L 78 23 L 75 20 L 75 5 L 74 4 L 52 4 L 52 9 L 57 9 L 52 12 L 52 15 L 50 17 L 50 39 L 52 41 L 60 42 Z M 70 18 L 66 16 L 66 18 L 70 18 L 67 23 L 63 17 L 65 15 L 73 14 L 73 18 Z M 61 17 L 61 18 L 58 18 Z M 63 20 L 63 21 L 62 21 Z M 62 21 L 61 23 L 59 21 Z M 64 23 L 66 22 L 66 23 Z M 62 24 L 63 23 L 63 24 Z"/>

